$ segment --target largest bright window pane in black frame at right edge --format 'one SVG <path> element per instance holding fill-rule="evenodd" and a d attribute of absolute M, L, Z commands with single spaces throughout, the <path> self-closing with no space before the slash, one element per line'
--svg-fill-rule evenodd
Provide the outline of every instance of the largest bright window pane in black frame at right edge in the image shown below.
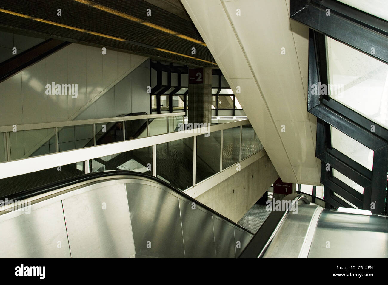
<path fill-rule="evenodd" d="M 388 65 L 326 39 L 331 98 L 388 128 Z"/>

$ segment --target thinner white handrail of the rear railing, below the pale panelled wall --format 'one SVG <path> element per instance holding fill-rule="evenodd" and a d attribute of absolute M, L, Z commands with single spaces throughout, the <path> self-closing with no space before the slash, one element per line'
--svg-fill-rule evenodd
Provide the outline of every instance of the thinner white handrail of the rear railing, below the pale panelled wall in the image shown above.
<path fill-rule="evenodd" d="M 138 116 L 128 116 L 128 117 L 113 117 L 113 118 L 75 120 L 75 121 L 63 121 L 63 122 L 51 122 L 51 123 L 23 124 L 23 125 L 16 125 L 16 128 L 17 128 L 17 131 L 51 129 L 51 128 L 71 127 L 71 126 L 78 126 L 78 125 L 91 125 L 91 124 L 98 124 L 98 123 L 131 121 L 131 120 L 141 120 L 141 119 L 151 119 L 151 118 L 165 118 L 165 117 L 175 117 L 175 116 L 184 116 L 184 115 L 185 115 L 185 112 L 162 113 L 162 114 L 138 115 Z M 13 129 L 14 129 L 13 125 L 1 126 L 0 133 L 12 132 Z"/>

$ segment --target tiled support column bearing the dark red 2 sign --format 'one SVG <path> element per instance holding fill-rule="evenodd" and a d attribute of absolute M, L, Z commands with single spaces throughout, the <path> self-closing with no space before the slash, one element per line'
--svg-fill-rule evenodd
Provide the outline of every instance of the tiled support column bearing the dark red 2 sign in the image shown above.
<path fill-rule="evenodd" d="M 189 69 L 189 123 L 211 123 L 211 68 Z"/>

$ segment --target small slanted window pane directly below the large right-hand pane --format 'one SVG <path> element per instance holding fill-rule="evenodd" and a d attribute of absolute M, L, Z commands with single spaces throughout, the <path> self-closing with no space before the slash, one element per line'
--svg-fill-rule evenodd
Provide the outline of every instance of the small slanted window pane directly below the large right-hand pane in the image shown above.
<path fill-rule="evenodd" d="M 372 170 L 373 167 L 373 151 L 363 144 L 360 144 L 355 139 L 344 134 L 340 130 L 331 129 L 331 144 L 333 148 L 341 151 L 344 155 L 348 156 L 352 160 L 360 163 L 364 167 Z"/>

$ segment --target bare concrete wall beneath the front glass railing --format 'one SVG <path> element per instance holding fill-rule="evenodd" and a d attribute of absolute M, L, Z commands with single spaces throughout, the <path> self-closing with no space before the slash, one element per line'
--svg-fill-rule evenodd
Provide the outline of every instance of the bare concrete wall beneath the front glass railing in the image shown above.
<path fill-rule="evenodd" d="M 196 199 L 237 222 L 277 178 L 279 174 L 265 155 Z"/>

